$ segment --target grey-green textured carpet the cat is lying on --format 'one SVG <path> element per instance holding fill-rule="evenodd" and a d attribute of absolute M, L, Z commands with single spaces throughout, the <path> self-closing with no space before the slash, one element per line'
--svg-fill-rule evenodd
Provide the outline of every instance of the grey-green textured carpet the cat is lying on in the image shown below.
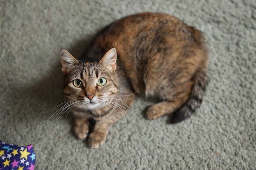
<path fill-rule="evenodd" d="M 126 15 L 168 13 L 204 32 L 209 79 L 202 106 L 180 124 L 143 116 L 137 98 L 89 149 L 61 104 L 59 50 L 74 56 L 99 29 Z M 0 140 L 33 144 L 37 170 L 256 169 L 256 1 L 0 0 Z"/>

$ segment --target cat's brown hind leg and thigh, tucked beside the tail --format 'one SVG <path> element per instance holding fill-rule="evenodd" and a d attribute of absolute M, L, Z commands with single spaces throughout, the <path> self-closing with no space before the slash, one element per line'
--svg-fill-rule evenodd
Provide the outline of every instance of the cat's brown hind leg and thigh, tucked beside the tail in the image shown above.
<path fill-rule="evenodd" d="M 153 71 L 157 72 L 156 70 Z M 193 82 L 187 81 L 187 78 L 183 76 L 184 74 L 167 71 L 162 71 L 162 73 L 158 75 L 147 74 L 145 78 L 146 95 L 155 96 L 161 100 L 148 108 L 146 118 L 149 120 L 174 113 L 186 103 L 191 95 Z M 172 80 L 173 77 L 176 77 L 175 80 Z"/>

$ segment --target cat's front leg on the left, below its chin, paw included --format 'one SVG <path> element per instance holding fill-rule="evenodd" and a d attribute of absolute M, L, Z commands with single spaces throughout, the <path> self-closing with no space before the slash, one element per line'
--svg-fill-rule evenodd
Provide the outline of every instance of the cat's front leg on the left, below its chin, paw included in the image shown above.
<path fill-rule="evenodd" d="M 74 116 L 73 131 L 79 139 L 85 139 L 89 132 L 89 118 Z"/>

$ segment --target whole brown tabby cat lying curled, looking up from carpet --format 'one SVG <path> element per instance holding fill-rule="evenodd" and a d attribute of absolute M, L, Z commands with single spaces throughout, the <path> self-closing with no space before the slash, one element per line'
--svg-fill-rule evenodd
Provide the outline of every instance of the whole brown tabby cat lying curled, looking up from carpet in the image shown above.
<path fill-rule="evenodd" d="M 121 18 L 97 33 L 79 59 L 64 49 L 60 55 L 65 107 L 72 109 L 74 133 L 92 148 L 104 144 L 136 94 L 160 99 L 147 119 L 172 114 L 172 123 L 202 102 L 208 67 L 202 33 L 170 15 Z M 88 134 L 90 118 L 95 125 Z"/>

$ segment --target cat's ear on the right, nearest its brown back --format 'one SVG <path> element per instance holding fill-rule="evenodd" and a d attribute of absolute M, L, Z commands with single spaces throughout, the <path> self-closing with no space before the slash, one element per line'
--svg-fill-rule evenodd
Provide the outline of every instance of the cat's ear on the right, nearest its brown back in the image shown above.
<path fill-rule="evenodd" d="M 99 61 L 100 64 L 105 65 L 108 69 L 115 71 L 117 68 L 117 50 L 116 48 L 111 48 L 106 52 L 106 54 L 103 56 L 101 61 Z"/>

